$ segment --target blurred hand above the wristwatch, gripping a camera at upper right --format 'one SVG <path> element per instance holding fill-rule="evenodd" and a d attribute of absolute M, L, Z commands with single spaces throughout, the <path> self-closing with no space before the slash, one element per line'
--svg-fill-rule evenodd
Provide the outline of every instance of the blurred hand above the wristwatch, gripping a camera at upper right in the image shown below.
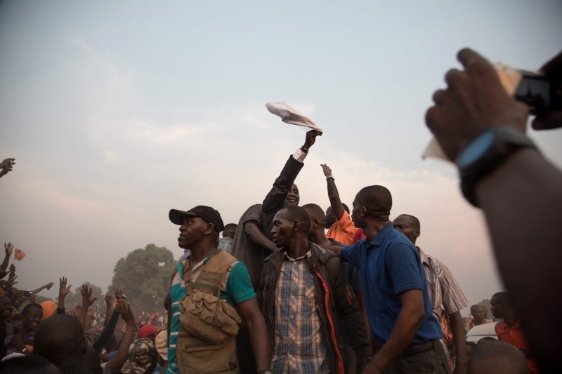
<path fill-rule="evenodd" d="M 507 126 L 525 132 L 529 109 L 511 98 L 495 68 L 481 55 L 465 48 L 457 58 L 464 71 L 445 74 L 447 89 L 433 93 L 435 105 L 426 112 L 426 124 L 447 157 L 457 154 L 482 131 Z"/>

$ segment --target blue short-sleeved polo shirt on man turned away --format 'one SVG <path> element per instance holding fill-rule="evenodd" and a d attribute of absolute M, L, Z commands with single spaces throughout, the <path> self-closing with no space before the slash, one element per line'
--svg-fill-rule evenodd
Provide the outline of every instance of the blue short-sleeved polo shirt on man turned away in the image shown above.
<path fill-rule="evenodd" d="M 374 341 L 384 345 L 402 309 L 399 293 L 421 290 L 424 295 L 424 320 L 412 343 L 424 344 L 443 335 L 439 321 L 431 312 L 424 267 L 416 247 L 389 222 L 374 239 L 362 239 L 341 250 L 341 257 L 361 272 L 367 317 Z"/>

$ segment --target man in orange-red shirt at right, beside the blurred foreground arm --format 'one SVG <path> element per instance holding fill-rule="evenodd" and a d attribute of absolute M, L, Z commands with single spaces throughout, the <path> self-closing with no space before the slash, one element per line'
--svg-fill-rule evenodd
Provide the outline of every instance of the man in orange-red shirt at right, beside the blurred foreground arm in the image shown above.
<path fill-rule="evenodd" d="M 490 303 L 492 304 L 492 314 L 498 319 L 504 319 L 495 326 L 497 338 L 502 342 L 514 345 L 523 352 L 531 373 L 540 373 L 538 363 L 532 356 L 529 343 L 521 330 L 521 324 L 515 314 L 509 294 L 506 291 L 495 293 Z"/>

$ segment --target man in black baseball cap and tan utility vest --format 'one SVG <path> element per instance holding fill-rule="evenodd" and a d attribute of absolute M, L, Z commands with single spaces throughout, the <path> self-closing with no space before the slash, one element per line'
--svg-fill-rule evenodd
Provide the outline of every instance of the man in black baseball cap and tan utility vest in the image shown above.
<path fill-rule="evenodd" d="M 189 303 L 193 302 L 192 305 L 197 309 L 196 293 L 220 297 L 226 304 L 222 309 L 233 308 L 236 316 L 234 307 L 240 310 L 249 328 L 256 368 L 259 373 L 267 372 L 270 364 L 269 339 L 246 265 L 217 248 L 218 234 L 224 229 L 221 214 L 210 206 L 195 206 L 189 211 L 171 209 L 169 218 L 179 225 L 178 246 L 190 252 L 176 265 L 170 286 L 170 334 L 166 373 L 238 373 L 240 370 L 235 335 L 216 345 L 204 340 L 197 342 L 195 346 L 209 348 L 210 353 L 205 357 L 188 348 L 198 339 L 198 332 L 191 331 L 195 329 L 192 328 L 195 324 L 185 324 L 188 321 L 185 312 L 190 309 Z M 188 296 L 183 300 L 185 295 L 192 295 L 192 298 Z"/>

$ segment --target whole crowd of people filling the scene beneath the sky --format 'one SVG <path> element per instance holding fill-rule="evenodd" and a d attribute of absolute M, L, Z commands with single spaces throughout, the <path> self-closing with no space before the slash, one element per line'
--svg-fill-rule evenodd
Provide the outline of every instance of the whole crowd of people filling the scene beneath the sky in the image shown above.
<path fill-rule="evenodd" d="M 491 295 L 493 319 L 483 305 L 462 318 L 469 302 L 455 277 L 416 246 L 413 212 L 391 213 L 388 188 L 359 189 L 350 209 L 322 164 L 329 207 L 299 206 L 294 182 L 322 134 L 311 130 L 237 225 L 210 206 L 171 209 L 184 254 L 163 316 L 135 316 L 120 290 L 98 316 L 86 285 L 81 305 L 67 310 L 65 277 L 57 302 L 37 304 L 54 283 L 15 288 L 6 243 L 0 373 L 560 372 L 562 327 L 551 300 L 562 296 L 562 173 L 525 136 L 529 108 L 507 95 L 492 65 L 469 49 L 458 58 L 464 70 L 447 72 L 426 123 L 459 168 L 464 196 L 485 213 L 507 288 Z M 562 81 L 562 54 L 542 72 Z M 561 127 L 561 114 L 540 113 L 533 127 Z M 529 219 L 539 216 L 546 219 Z M 465 341 L 487 323 L 497 340 Z"/>

